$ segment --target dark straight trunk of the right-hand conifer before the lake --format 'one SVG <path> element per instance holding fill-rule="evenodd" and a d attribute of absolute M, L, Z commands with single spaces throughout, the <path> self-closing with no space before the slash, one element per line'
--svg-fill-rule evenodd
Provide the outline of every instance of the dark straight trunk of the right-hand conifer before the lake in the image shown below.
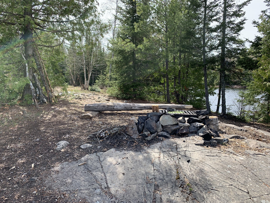
<path fill-rule="evenodd" d="M 223 21 L 222 21 L 222 38 L 221 38 L 221 57 L 220 57 L 220 83 L 221 83 L 221 115 L 226 115 L 226 99 L 225 99 L 225 70 L 226 70 L 226 13 L 227 13 L 227 0 L 224 0 L 223 7 Z"/>

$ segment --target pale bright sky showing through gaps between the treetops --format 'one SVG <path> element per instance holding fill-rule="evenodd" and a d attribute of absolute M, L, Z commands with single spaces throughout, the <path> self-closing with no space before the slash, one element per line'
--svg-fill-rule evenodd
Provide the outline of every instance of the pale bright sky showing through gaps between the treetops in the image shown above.
<path fill-rule="evenodd" d="M 235 0 L 238 2 L 244 2 L 244 0 Z M 109 2 L 109 0 L 98 0 L 100 8 L 104 5 L 104 3 Z M 245 17 L 247 19 L 244 30 L 241 31 L 241 38 L 242 39 L 249 39 L 253 40 L 256 35 L 259 35 L 257 28 L 253 26 L 252 21 L 259 20 L 259 15 L 261 14 L 262 10 L 265 10 L 266 3 L 264 0 L 252 0 L 249 5 L 244 7 L 244 11 L 246 12 Z M 112 19 L 112 15 L 106 12 L 105 16 L 102 19 Z M 106 37 L 110 38 L 111 34 L 106 35 Z M 246 46 L 249 46 L 249 43 L 246 43 Z"/>

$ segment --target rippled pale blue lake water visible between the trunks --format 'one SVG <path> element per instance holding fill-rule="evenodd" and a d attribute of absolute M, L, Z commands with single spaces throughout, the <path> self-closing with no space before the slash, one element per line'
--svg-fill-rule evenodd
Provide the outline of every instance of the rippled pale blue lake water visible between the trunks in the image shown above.
<path fill-rule="evenodd" d="M 235 111 L 237 110 L 235 103 L 236 103 L 236 100 L 239 98 L 238 93 L 241 90 L 243 89 L 226 88 L 226 91 L 225 91 L 226 109 L 229 109 L 229 112 L 232 112 L 234 115 L 236 115 Z M 216 94 L 214 96 L 209 95 L 209 102 L 211 105 L 212 112 L 216 112 L 216 109 L 217 109 L 218 89 L 215 90 L 215 93 Z M 221 98 L 220 98 L 219 112 L 221 112 Z"/>

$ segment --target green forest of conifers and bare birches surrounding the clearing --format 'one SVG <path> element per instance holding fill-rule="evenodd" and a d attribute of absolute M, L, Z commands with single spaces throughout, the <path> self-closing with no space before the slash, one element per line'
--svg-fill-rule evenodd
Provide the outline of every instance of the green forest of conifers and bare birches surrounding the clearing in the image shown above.
<path fill-rule="evenodd" d="M 238 118 L 270 122 L 270 0 L 254 21 L 260 36 L 240 38 L 246 21 L 235 0 L 110 0 L 104 22 L 94 0 L 0 2 L 0 104 L 55 102 L 67 85 L 114 97 L 207 108 L 219 89 L 241 85 Z M 112 32 L 106 45 L 104 35 Z"/>

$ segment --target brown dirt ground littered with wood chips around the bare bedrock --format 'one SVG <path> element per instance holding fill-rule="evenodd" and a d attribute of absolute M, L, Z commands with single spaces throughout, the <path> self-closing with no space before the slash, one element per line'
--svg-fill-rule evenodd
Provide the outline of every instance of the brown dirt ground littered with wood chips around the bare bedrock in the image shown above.
<path fill-rule="evenodd" d="M 164 139 L 134 140 L 123 133 L 129 118 L 146 115 L 152 110 L 101 112 L 95 118 L 80 119 L 85 104 L 124 100 L 108 97 L 104 93 L 82 91 L 80 88 L 69 87 L 68 91 L 69 94 L 58 96 L 57 103 L 42 105 L 40 109 L 36 109 L 34 105 L 0 106 L 0 202 L 85 202 L 82 199 L 70 200 L 66 193 L 59 190 L 48 190 L 44 180 L 50 175 L 50 170 L 61 162 L 75 161 L 89 153 L 105 152 L 112 148 L 120 151 L 141 151 Z M 57 92 L 60 90 L 55 90 L 55 93 Z M 128 100 L 128 103 L 148 102 Z M 249 125 L 269 132 L 268 125 L 253 125 L 233 119 L 219 120 L 240 127 Z M 96 136 L 95 133 L 101 130 L 105 131 L 104 136 Z M 270 137 L 256 131 L 243 132 L 231 128 L 220 130 L 221 133 L 237 134 L 270 143 Z M 67 148 L 56 151 L 56 143 L 61 140 L 70 144 Z M 79 146 L 84 143 L 93 146 L 81 149 Z M 215 148 L 223 151 L 232 149 L 240 154 L 249 149 L 237 140 L 230 140 L 228 144 Z M 270 153 L 267 149 L 256 151 Z M 33 177 L 39 181 L 33 180 Z"/>

